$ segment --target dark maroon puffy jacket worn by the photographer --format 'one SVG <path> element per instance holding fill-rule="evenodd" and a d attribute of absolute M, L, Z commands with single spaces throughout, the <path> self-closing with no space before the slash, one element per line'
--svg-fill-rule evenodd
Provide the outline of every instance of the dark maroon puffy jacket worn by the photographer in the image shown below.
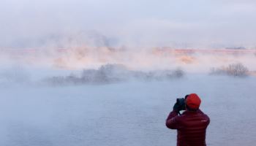
<path fill-rule="evenodd" d="M 201 110 L 170 112 L 166 120 L 167 128 L 177 129 L 177 146 L 206 146 L 206 128 L 210 118 Z"/>

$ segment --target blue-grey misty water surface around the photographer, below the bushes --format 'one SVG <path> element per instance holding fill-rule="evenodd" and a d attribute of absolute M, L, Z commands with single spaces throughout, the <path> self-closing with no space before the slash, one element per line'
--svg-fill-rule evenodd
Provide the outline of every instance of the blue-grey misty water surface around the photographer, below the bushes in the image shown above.
<path fill-rule="evenodd" d="M 1 145 L 176 145 L 165 118 L 198 93 L 211 118 L 207 145 L 254 145 L 255 77 L 187 75 L 161 82 L 0 86 Z M 239 116 L 235 116 L 239 115 Z"/>

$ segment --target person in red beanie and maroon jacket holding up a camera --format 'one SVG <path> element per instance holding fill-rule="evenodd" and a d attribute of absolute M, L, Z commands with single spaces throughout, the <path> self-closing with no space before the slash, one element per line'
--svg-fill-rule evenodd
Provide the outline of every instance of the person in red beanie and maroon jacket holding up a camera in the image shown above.
<path fill-rule="evenodd" d="M 185 111 L 178 115 L 184 107 L 177 100 L 165 125 L 177 129 L 177 146 L 206 146 L 206 128 L 210 118 L 199 109 L 201 100 L 196 93 L 187 95 L 184 102 Z"/>

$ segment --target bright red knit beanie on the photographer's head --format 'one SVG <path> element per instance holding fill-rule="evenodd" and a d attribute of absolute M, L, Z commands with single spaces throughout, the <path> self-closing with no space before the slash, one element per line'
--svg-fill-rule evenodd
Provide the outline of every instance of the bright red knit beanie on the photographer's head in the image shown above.
<path fill-rule="evenodd" d="M 196 93 L 191 93 L 187 96 L 186 104 L 190 109 L 198 109 L 200 107 L 201 99 Z"/>

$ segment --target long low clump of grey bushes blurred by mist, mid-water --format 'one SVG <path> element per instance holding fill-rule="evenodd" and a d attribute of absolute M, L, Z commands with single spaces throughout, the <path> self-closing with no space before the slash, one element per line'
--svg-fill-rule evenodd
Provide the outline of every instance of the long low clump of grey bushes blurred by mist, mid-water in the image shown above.
<path fill-rule="evenodd" d="M 80 74 L 70 74 L 66 77 L 49 77 L 45 80 L 50 85 L 81 85 L 81 84 L 106 84 L 124 82 L 129 80 L 164 81 L 181 78 L 184 72 L 181 69 L 173 71 L 131 71 L 121 64 L 107 64 L 99 69 L 84 69 Z"/>

